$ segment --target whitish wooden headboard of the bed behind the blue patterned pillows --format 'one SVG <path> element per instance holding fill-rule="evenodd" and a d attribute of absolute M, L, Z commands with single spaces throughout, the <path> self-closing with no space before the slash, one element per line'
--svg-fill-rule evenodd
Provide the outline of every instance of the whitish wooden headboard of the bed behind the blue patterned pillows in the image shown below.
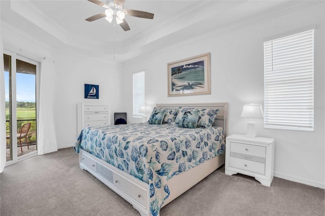
<path fill-rule="evenodd" d="M 182 107 L 196 107 L 205 109 L 218 109 L 218 115 L 212 126 L 222 127 L 224 130 L 224 137 L 228 135 L 228 102 L 222 103 L 156 103 L 157 108 L 176 109 Z"/>

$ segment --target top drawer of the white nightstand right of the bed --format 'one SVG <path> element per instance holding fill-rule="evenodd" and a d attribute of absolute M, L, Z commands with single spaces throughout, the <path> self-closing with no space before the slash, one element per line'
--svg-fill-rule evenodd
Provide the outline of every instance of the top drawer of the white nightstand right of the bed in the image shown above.
<path fill-rule="evenodd" d="M 263 146 L 254 146 L 244 143 L 231 142 L 230 151 L 265 158 L 266 148 Z"/>

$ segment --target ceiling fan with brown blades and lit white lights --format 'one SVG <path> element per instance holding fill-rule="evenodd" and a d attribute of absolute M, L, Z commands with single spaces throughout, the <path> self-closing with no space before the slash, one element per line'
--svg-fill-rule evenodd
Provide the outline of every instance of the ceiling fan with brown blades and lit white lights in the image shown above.
<path fill-rule="evenodd" d="M 125 15 L 128 16 L 134 16 L 134 17 L 140 17 L 140 18 L 146 18 L 146 19 L 153 19 L 152 13 L 148 13 L 145 11 L 138 11 L 138 10 L 130 10 L 130 9 L 123 9 L 123 3 L 125 0 L 114 0 L 114 3 L 112 4 L 105 4 L 102 3 L 99 0 L 88 0 L 89 2 L 92 2 L 96 5 L 102 6 L 106 8 L 105 12 L 93 15 L 91 17 L 88 17 L 86 20 L 89 22 L 92 22 L 94 20 L 101 19 L 105 17 L 107 21 L 112 23 L 114 21 L 114 25 L 119 24 L 124 31 L 130 30 L 130 27 L 128 26 L 127 22 L 125 21 Z"/>

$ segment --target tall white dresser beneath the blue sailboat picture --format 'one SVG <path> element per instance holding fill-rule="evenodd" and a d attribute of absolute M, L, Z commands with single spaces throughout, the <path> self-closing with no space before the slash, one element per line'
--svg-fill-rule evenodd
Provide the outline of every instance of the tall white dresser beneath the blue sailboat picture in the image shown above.
<path fill-rule="evenodd" d="M 107 103 L 78 103 L 77 104 L 77 134 L 89 126 L 111 125 L 110 106 Z"/>

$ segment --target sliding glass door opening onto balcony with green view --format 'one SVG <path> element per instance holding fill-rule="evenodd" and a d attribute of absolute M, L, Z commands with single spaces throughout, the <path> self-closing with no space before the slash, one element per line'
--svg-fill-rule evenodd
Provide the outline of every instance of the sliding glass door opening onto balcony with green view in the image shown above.
<path fill-rule="evenodd" d="M 36 83 L 39 63 L 4 52 L 7 162 L 37 153 Z"/>

